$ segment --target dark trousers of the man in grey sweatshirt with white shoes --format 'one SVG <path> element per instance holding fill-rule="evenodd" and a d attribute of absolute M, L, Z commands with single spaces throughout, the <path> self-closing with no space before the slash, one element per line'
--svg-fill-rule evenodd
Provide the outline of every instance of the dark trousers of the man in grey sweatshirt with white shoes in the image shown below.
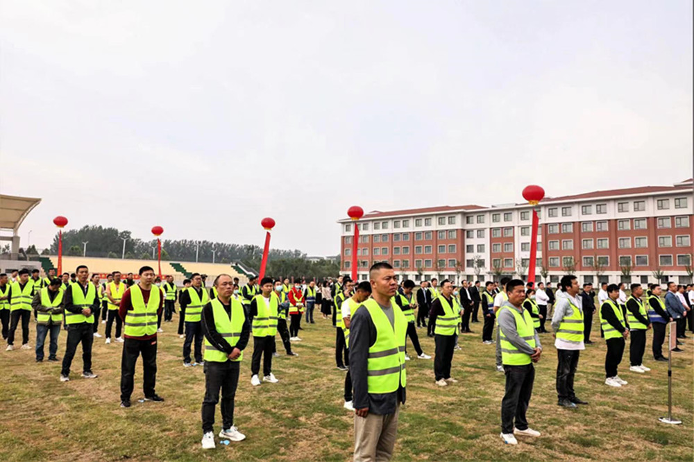
<path fill-rule="evenodd" d="M 506 393 L 501 400 L 501 432 L 513 433 L 514 427 L 527 430 L 525 412 L 530 404 L 535 368 L 532 364 L 504 366 L 504 373 L 506 374 Z"/>

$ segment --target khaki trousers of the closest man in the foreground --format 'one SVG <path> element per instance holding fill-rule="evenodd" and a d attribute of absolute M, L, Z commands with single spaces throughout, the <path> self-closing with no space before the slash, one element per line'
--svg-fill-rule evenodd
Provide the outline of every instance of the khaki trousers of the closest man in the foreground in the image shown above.
<path fill-rule="evenodd" d="M 354 416 L 354 461 L 389 461 L 398 436 L 398 414 L 379 416 L 369 413 L 366 417 Z"/>

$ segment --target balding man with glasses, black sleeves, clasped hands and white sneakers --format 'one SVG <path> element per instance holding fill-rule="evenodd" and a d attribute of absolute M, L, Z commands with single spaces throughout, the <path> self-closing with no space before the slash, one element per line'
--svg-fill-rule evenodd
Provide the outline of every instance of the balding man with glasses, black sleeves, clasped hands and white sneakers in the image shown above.
<path fill-rule="evenodd" d="M 217 298 L 205 303 L 201 315 L 205 336 L 203 449 L 214 449 L 214 408 L 219 402 L 220 390 L 222 427 L 219 438 L 232 441 L 246 439 L 246 435 L 234 425 L 234 405 L 241 361 L 244 359 L 251 327 L 242 302 L 232 297 L 234 282 L 231 276 L 217 276 L 214 286 L 217 287 Z"/>

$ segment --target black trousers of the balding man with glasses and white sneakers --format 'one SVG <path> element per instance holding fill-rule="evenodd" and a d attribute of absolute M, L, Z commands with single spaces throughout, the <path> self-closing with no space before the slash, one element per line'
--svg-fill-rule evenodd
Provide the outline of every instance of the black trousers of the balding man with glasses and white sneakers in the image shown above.
<path fill-rule="evenodd" d="M 230 429 L 234 425 L 234 400 L 236 387 L 239 385 L 241 361 L 205 361 L 205 398 L 203 399 L 203 433 L 214 427 L 214 407 L 219 402 L 221 389 L 222 428 Z"/>

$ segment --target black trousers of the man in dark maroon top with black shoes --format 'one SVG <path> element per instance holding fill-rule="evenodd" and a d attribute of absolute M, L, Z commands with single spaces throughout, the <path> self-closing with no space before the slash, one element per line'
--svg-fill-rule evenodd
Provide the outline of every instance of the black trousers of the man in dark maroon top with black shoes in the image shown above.
<path fill-rule="evenodd" d="M 133 394 L 135 364 L 142 354 L 144 397 L 154 395 L 157 382 L 157 339 L 124 339 L 121 358 L 121 401 L 130 400 Z"/>

